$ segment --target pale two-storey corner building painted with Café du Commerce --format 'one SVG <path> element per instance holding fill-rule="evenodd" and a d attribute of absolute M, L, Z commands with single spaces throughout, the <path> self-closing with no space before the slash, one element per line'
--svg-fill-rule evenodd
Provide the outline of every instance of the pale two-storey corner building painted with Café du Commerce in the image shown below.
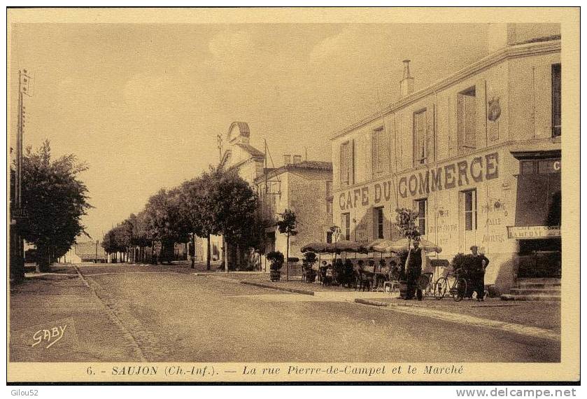
<path fill-rule="evenodd" d="M 397 239 L 395 209 L 452 260 L 479 246 L 486 283 L 560 278 L 560 27 L 492 25 L 488 56 L 333 134 L 341 239 Z"/>

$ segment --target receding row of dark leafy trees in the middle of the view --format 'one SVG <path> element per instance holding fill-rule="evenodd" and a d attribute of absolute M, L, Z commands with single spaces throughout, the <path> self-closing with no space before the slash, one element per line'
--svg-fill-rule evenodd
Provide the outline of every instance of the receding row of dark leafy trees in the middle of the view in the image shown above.
<path fill-rule="evenodd" d="M 225 242 L 243 248 L 260 245 L 264 223 L 258 204 L 257 194 L 235 172 L 210 167 L 181 186 L 159 190 L 139 214 L 131 214 L 108 231 L 102 246 L 107 253 L 127 253 L 136 247 L 151 247 L 154 253 L 158 242 L 159 260 L 170 262 L 174 244 L 191 241 L 193 267 L 195 237 L 206 237 L 206 267 L 210 269 L 211 235 L 221 234 Z"/>

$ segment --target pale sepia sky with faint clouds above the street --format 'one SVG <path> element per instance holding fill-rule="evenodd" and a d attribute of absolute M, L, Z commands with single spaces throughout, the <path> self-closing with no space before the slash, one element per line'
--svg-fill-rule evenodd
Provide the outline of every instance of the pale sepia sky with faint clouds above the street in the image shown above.
<path fill-rule="evenodd" d="M 418 90 L 487 55 L 481 24 L 20 23 L 10 39 L 11 146 L 24 68 L 24 145 L 87 162 L 93 239 L 217 164 L 234 121 L 275 166 L 330 161 L 332 134 L 397 101 L 403 59 Z"/>

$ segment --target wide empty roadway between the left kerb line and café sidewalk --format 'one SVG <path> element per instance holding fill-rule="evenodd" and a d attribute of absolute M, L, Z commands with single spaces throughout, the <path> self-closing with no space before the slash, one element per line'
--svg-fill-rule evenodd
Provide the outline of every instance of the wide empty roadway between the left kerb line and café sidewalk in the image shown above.
<path fill-rule="evenodd" d="M 560 344 L 153 267 L 82 266 L 144 360 L 558 362 Z M 128 270 L 139 273 L 126 273 Z M 289 295 L 291 298 L 295 295 Z M 274 299 L 273 299 L 274 298 Z M 128 336 L 127 336 L 128 337 Z M 103 358 L 104 361 L 115 360 Z M 129 359 L 131 360 L 131 359 Z"/>

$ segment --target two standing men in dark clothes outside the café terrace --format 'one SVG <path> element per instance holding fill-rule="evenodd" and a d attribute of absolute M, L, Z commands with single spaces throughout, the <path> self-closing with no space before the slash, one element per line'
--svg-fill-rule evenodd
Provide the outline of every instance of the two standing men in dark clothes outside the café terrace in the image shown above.
<path fill-rule="evenodd" d="M 465 297 L 472 299 L 473 293 L 476 292 L 477 301 L 483 301 L 485 296 L 485 271 L 489 265 L 489 259 L 479 253 L 479 247 L 474 245 L 470 248 L 473 255 L 473 265 L 469 273 L 465 276 L 467 279 L 467 293 Z M 406 260 L 406 281 L 407 290 L 405 300 L 423 299 L 422 289 L 418 286 L 418 279 L 422 274 L 422 248 L 420 241 L 413 241 L 413 247 L 409 249 Z"/>

